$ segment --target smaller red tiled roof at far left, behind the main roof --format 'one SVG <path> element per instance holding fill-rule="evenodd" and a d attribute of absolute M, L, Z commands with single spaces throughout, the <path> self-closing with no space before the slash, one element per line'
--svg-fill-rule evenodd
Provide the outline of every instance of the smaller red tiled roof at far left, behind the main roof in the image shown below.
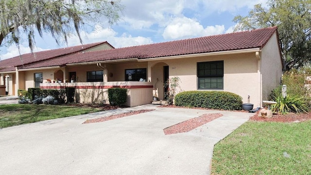
<path fill-rule="evenodd" d="M 108 42 L 97 42 L 91 44 L 85 44 L 80 46 L 71 46 L 60 49 L 53 49 L 48 51 L 41 51 L 35 53 L 25 53 L 20 56 L 15 56 L 13 58 L 5 59 L 0 61 L 0 71 L 12 71 L 15 70 L 15 66 L 19 65 L 27 65 L 31 63 L 41 62 L 43 60 L 49 60 L 58 56 L 64 56 L 72 53 L 78 53 L 85 51 L 87 49 L 91 49 L 93 47 L 108 44 Z M 110 45 L 111 46 L 111 45 Z M 112 47 L 112 46 L 111 46 Z"/>

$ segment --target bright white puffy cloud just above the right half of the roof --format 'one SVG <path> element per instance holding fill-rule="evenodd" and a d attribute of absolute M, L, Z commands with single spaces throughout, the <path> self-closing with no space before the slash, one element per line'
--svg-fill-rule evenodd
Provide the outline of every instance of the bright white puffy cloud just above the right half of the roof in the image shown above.
<path fill-rule="evenodd" d="M 164 39 L 183 39 L 198 36 L 217 35 L 225 32 L 224 25 L 204 28 L 198 21 L 190 18 L 174 18 L 164 29 Z"/>

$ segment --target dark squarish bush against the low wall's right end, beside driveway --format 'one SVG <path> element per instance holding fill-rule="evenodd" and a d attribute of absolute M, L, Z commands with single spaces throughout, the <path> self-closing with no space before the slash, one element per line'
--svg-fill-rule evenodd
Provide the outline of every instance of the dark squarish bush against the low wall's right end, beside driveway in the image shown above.
<path fill-rule="evenodd" d="M 109 88 L 108 99 L 110 105 L 120 106 L 126 103 L 127 89 L 126 88 Z"/>

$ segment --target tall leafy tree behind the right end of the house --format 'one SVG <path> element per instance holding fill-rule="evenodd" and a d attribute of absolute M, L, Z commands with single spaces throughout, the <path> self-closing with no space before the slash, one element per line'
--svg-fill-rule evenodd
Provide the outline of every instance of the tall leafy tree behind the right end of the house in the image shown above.
<path fill-rule="evenodd" d="M 236 16 L 235 31 L 277 26 L 285 70 L 311 63 L 311 0 L 269 0 L 246 17 Z"/>

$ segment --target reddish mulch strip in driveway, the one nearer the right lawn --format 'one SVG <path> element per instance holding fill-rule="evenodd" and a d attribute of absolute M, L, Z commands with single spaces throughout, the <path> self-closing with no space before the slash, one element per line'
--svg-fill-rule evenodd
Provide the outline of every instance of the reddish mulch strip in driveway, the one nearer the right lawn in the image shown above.
<path fill-rule="evenodd" d="M 221 114 L 221 113 L 203 114 L 200 117 L 195 117 L 195 118 L 186 120 L 184 122 L 177 123 L 177 124 L 174 124 L 174 125 L 169 126 L 167 128 L 164 128 L 163 132 L 165 135 L 189 132 L 189 131 L 191 131 L 191 130 L 199 127 L 199 126 L 202 126 L 203 124 L 206 124 L 212 120 L 215 120 L 221 116 L 223 116 L 223 114 Z"/>

